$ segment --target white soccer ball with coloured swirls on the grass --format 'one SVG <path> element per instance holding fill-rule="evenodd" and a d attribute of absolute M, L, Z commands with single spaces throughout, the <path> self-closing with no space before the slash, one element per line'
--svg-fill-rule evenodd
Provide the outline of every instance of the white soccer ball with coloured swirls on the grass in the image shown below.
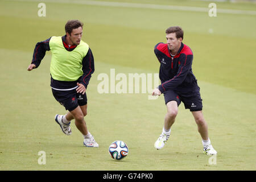
<path fill-rule="evenodd" d="M 109 154 L 113 159 L 121 160 L 127 156 L 128 147 L 123 141 L 114 141 L 109 146 Z"/>

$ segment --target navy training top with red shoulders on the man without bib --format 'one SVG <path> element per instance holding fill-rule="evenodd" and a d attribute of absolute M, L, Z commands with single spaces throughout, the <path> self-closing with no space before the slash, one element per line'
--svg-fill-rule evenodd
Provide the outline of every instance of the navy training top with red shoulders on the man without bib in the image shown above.
<path fill-rule="evenodd" d="M 181 43 L 180 49 L 172 56 L 168 44 L 158 43 L 154 49 L 160 63 L 159 78 L 161 93 L 166 90 L 191 91 L 197 87 L 196 77 L 192 72 L 193 53 L 185 44 Z"/>

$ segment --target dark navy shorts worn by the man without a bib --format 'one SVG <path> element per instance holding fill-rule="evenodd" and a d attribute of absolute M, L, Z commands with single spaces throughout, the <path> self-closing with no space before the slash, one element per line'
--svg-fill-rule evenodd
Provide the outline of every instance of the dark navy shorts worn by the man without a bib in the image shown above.
<path fill-rule="evenodd" d="M 189 109 L 190 111 L 200 111 L 203 109 L 199 86 L 189 92 L 166 90 L 163 94 L 166 104 L 170 101 L 176 101 L 178 106 L 183 102 L 185 109 Z"/>

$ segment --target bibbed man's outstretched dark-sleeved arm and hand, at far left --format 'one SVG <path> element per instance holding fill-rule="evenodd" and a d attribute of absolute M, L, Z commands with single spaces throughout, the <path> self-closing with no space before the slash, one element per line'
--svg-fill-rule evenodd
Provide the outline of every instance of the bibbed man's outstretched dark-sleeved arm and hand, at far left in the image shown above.
<path fill-rule="evenodd" d="M 46 55 L 46 51 L 49 51 L 49 40 L 51 38 L 38 42 L 35 46 L 31 64 L 28 66 L 28 71 L 31 71 L 34 68 L 38 68 L 42 59 Z"/>

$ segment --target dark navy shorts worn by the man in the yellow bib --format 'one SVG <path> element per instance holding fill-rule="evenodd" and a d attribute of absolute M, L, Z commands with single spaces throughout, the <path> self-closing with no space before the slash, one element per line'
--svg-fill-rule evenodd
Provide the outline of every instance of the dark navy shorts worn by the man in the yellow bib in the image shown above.
<path fill-rule="evenodd" d="M 77 93 L 76 89 L 73 90 L 55 90 L 52 89 L 54 98 L 65 107 L 66 110 L 72 111 L 78 106 L 87 104 L 86 93 Z"/>

